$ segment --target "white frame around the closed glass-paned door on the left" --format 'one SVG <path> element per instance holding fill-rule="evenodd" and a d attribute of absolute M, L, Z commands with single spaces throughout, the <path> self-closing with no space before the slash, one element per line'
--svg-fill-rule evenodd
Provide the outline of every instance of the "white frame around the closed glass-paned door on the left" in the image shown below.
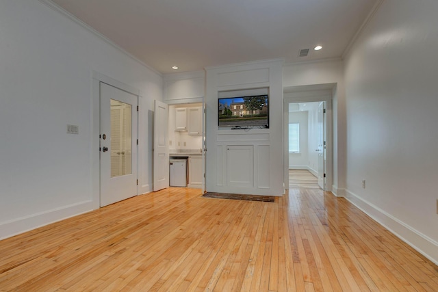
<path fill-rule="evenodd" d="M 100 196 L 101 196 L 101 163 L 100 163 L 100 139 L 99 135 L 101 133 L 101 114 L 100 114 L 100 83 L 107 83 L 115 88 L 129 92 L 130 94 L 138 96 L 138 106 L 142 106 L 142 95 L 140 90 L 133 88 L 123 82 L 107 77 L 102 73 L 92 70 L 92 98 L 91 98 L 91 196 L 93 209 L 100 208 Z M 139 113 L 139 112 L 138 112 Z M 142 140 L 139 133 L 142 133 L 142 115 L 138 114 L 137 119 L 137 137 L 139 140 L 139 145 L 142 145 Z M 137 146 L 137 145 L 136 145 Z M 142 161 L 142 151 L 138 148 L 137 154 L 137 178 L 139 180 L 137 187 L 137 195 L 142 194 L 141 180 L 142 178 L 142 168 L 140 167 L 140 161 Z"/>

